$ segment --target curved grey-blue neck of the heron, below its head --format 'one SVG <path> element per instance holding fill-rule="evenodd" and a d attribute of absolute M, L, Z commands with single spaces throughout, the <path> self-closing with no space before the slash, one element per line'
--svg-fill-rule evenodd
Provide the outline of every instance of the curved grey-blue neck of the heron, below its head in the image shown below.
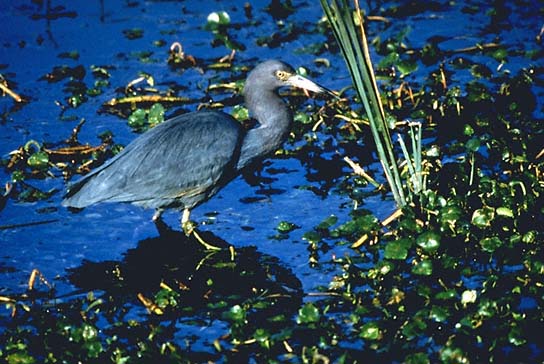
<path fill-rule="evenodd" d="M 287 137 L 293 119 L 291 111 L 276 92 L 244 90 L 244 93 L 249 113 L 258 124 L 247 131 L 242 141 L 238 169 L 278 149 Z"/>

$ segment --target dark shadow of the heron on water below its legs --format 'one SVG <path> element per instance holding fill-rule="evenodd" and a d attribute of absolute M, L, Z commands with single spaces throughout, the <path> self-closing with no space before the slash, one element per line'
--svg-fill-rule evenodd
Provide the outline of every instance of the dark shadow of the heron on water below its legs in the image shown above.
<path fill-rule="evenodd" d="M 280 261 L 254 247 L 206 251 L 194 238 L 161 226 L 157 237 L 140 241 L 121 261 L 84 261 L 68 271 L 69 281 L 82 291 L 103 291 L 107 296 L 137 301 L 161 290 L 173 292 L 171 315 L 221 317 L 233 305 L 261 302 L 263 317 L 293 314 L 302 300 L 302 285 Z M 210 232 L 200 233 L 207 242 L 229 246 Z M 148 307 L 149 308 L 149 307 Z M 171 316 L 170 315 L 170 316 Z"/>

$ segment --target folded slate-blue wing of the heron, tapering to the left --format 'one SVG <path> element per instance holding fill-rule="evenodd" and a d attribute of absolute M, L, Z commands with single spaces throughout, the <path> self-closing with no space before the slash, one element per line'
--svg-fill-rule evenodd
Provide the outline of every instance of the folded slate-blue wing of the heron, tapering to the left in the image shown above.
<path fill-rule="evenodd" d="M 110 201 L 165 207 L 181 199 L 185 205 L 184 198 L 190 201 L 234 173 L 241 134 L 239 124 L 224 113 L 170 119 L 76 182 L 64 204 L 85 207 Z"/>

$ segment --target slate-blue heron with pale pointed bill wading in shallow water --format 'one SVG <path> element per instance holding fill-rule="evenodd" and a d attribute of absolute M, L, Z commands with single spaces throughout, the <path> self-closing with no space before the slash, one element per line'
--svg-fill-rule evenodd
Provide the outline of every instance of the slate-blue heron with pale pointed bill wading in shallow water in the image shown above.
<path fill-rule="evenodd" d="M 293 115 L 277 93 L 283 86 L 333 94 L 283 62 L 260 63 L 247 76 L 243 91 L 250 115 L 257 120 L 254 128 L 245 130 L 223 112 L 176 116 L 72 184 L 62 204 L 83 208 L 98 202 L 130 202 L 156 209 L 154 221 L 164 209 L 183 209 L 181 225 L 189 234 L 190 209 L 284 142 Z"/>

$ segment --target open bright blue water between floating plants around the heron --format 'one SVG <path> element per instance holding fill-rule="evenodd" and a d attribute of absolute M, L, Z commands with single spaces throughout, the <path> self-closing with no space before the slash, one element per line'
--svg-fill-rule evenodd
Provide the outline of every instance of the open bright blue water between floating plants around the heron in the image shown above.
<path fill-rule="evenodd" d="M 224 10 L 230 14 L 233 25 L 229 34 L 245 46 L 245 50 L 236 53 L 235 65 L 251 67 L 259 61 L 278 58 L 295 67 L 307 68 L 311 78 L 328 88 L 341 89 L 350 83 L 344 62 L 337 54 L 325 51 L 316 56 L 303 51 L 308 45 L 325 42 L 325 37 L 315 30 L 315 24 L 322 17 L 317 1 L 294 0 L 295 11 L 285 20 L 275 19 L 265 11 L 269 1 L 251 1 L 251 19 L 247 19 L 240 1 L 52 0 L 50 3 L 48 11 L 45 3 L 40 4 L 39 1 L 0 0 L 0 74 L 9 80 L 14 91 L 28 99 L 24 106 L 14 109 L 14 101 L 10 97 L 0 97 L 0 156 L 3 159 L 29 140 L 58 143 L 66 139 L 81 119 L 86 120 L 79 133 L 82 143 L 97 145 L 100 143 L 97 135 L 111 130 L 116 143 L 128 144 L 137 134 L 126 125 L 126 121 L 99 111 L 104 102 L 118 96 L 116 89 L 124 88 L 139 77 L 140 72 L 152 75 L 155 87 L 160 90 L 175 85 L 180 90 L 178 96 L 198 100 L 188 105 L 177 105 L 169 109 L 167 115 L 180 110 L 196 110 L 199 101 L 209 101 L 209 98 L 221 100 L 231 96 L 229 92 L 206 94 L 210 83 L 229 81 L 232 78 L 229 71 L 208 70 L 202 74 L 195 69 L 172 70 L 166 62 L 168 48 L 173 42 L 181 42 L 187 54 L 203 59 L 206 64 L 230 53 L 224 46 L 214 46 L 213 34 L 204 29 L 206 17 L 212 11 Z M 541 60 L 524 56 L 525 51 L 542 47 L 535 42 L 542 26 L 541 17 L 535 16 L 536 2 L 527 2 L 526 6 L 512 5 L 500 29 L 488 28 L 487 2 L 471 2 L 469 5 L 480 7 L 476 13 L 467 12 L 464 2 L 433 4 L 436 3 L 440 5 L 439 10 L 431 8 L 415 16 L 391 17 L 392 25 L 387 28 L 380 22 L 372 22 L 369 39 L 387 39 L 408 28 L 403 41 L 408 47 L 417 49 L 432 36 L 443 37 L 439 47 L 449 51 L 500 42 L 509 51 L 504 64 L 479 53 L 460 52 L 459 57 L 485 64 L 493 75 L 516 74 L 520 69 L 535 65 L 542 69 Z M 298 36 L 286 37 L 274 47 L 257 44 L 260 37 L 287 34 L 286 27 L 293 24 L 300 27 L 295 32 Z M 134 28 L 142 29 L 143 36 L 127 39 L 123 31 Z M 157 40 L 163 40 L 164 45 L 155 45 Z M 61 56 L 71 51 L 77 51 L 79 58 L 74 60 Z M 139 60 L 137 53 L 142 51 L 150 52 L 148 62 Z M 375 60 L 379 59 L 375 53 L 373 56 Z M 316 57 L 327 58 L 330 67 L 315 63 Z M 451 56 L 450 60 L 454 58 Z M 55 66 L 60 65 L 82 65 L 86 71 L 82 81 L 89 87 L 95 81 L 90 67 L 107 67 L 111 74 L 110 85 L 102 87 L 101 95 L 89 97 L 78 108 L 67 106 L 63 111 L 57 102 L 66 105 L 68 80 L 48 83 L 44 79 Z M 409 75 L 407 81 L 418 85 L 421 82 L 418 80 L 427 75 L 428 69 L 420 64 L 418 71 Z M 448 84 L 455 85 L 472 78 L 468 69 L 457 70 L 448 78 Z M 543 95 L 542 88 L 535 91 L 537 97 Z M 322 103 L 322 100 L 309 99 L 298 109 L 319 107 Z M 540 105 L 535 115 L 541 117 L 542 114 Z M 326 120 L 326 123 L 333 122 L 337 121 Z M 330 138 L 322 130 L 315 135 L 321 143 Z M 428 140 L 435 142 L 432 137 Z M 302 142 L 296 141 L 288 144 L 287 148 L 300 144 Z M 368 149 L 366 147 L 365 152 Z M 327 158 L 332 158 L 336 151 L 327 153 Z M 371 154 L 370 151 L 368 153 Z M 368 159 L 363 155 L 355 157 Z M 195 208 L 192 219 L 200 224 L 201 230 L 213 232 L 239 250 L 255 246 L 258 254 L 277 258 L 300 280 L 304 292 L 327 286 L 331 277 L 338 273 L 334 265 L 327 263 L 335 256 L 344 255 L 349 248 L 340 245 L 320 252 L 320 264 L 313 266 L 309 263 L 308 243 L 302 236 L 330 215 L 338 216 L 339 223 L 348 220 L 354 204 L 348 196 L 337 194 L 334 188 L 324 196 L 312 192 L 307 187 L 319 189 L 320 181 L 308 180 L 308 168 L 311 167 L 296 158 L 271 157 L 259 171 L 263 177 L 261 185 L 250 185 L 238 177 L 207 203 Z M 370 168 L 376 169 L 375 165 Z M 61 207 L 66 182 L 59 171 L 52 171 L 55 178 L 27 181 L 44 191 L 56 190 L 49 199 L 35 203 L 8 199 L 0 211 L 0 295 L 24 291 L 33 269 L 38 269 L 53 283 L 59 294 L 70 294 L 75 287 L 68 279 L 68 269 L 77 270 L 89 261 L 121 261 L 146 239 L 159 235 L 151 222 L 153 211 L 150 210 L 125 204 L 103 204 L 72 213 Z M 347 173 L 349 169 L 346 167 L 345 171 Z M 6 170 L 0 168 L 0 185 L 10 179 Z M 381 196 L 365 199 L 363 207 L 379 219 L 393 210 L 392 202 L 384 201 Z M 164 219 L 168 225 L 179 229 L 179 213 L 167 212 Z M 277 239 L 276 228 L 281 221 L 295 223 L 299 228 L 290 232 L 287 238 Z M 350 251 L 350 254 L 354 253 Z M 142 264 L 141 269 L 145 272 L 154 266 Z M 481 286 L 480 277 L 467 279 L 464 284 L 468 289 L 477 289 Z M 535 305 L 531 298 L 522 297 L 518 309 L 530 311 Z M 137 315 L 138 312 L 132 314 Z M 224 323 L 219 320 L 205 328 L 185 325 L 182 321 L 177 327 L 179 342 L 183 342 L 186 335 L 200 330 L 206 330 L 204 341 L 226 331 Z M 202 346 L 211 345 L 208 342 Z"/>

